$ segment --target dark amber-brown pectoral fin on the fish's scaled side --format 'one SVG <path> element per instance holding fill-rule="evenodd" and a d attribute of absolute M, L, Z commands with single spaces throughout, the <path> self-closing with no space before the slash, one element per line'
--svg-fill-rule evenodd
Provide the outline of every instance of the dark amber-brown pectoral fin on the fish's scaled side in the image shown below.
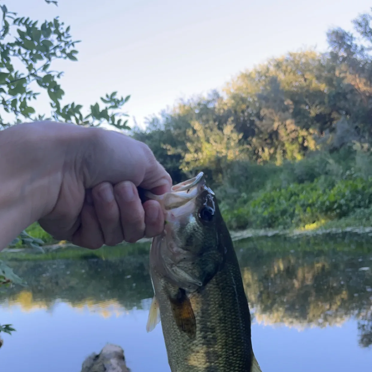
<path fill-rule="evenodd" d="M 179 290 L 177 298 L 170 299 L 174 320 L 180 331 L 189 336 L 190 339 L 196 337 L 196 319 L 191 306 L 191 302 L 185 291 Z"/>

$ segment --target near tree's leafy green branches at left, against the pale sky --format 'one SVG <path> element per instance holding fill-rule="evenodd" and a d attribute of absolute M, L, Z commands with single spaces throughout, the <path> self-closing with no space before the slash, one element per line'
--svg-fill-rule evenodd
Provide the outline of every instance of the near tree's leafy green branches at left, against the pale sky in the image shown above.
<path fill-rule="evenodd" d="M 45 2 L 57 6 L 57 1 Z M 129 95 L 124 98 L 117 97 L 117 92 L 106 94 L 100 98 L 103 107 L 96 102 L 85 115 L 80 104 L 61 105 L 65 92 L 58 80 L 62 72 L 53 70 L 52 64 L 58 59 L 77 61 L 75 46 L 80 41 L 73 41 L 70 26 L 65 28 L 59 17 L 39 25 L 38 21 L 9 11 L 5 4 L 0 4 L 0 8 L 0 130 L 23 121 L 41 119 L 85 126 L 100 126 L 106 122 L 118 129 L 130 129 L 125 120 L 128 115 L 122 112 Z M 34 87 L 47 91 L 51 106 L 49 117 L 38 115 L 32 107 L 40 94 Z M 36 249 L 41 249 L 43 243 L 23 231 L 10 246 L 19 240 Z M 0 285 L 9 283 L 22 281 L 0 260 Z M 11 333 L 13 330 L 9 324 L 0 325 L 0 332 Z"/>

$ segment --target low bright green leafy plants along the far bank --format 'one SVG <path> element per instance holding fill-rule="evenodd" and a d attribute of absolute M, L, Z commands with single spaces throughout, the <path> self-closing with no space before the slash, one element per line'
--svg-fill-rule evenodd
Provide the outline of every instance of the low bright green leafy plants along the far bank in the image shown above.
<path fill-rule="evenodd" d="M 372 177 L 348 174 L 338 182 L 320 177 L 315 182 L 263 191 L 235 210 L 221 209 L 230 228 L 291 228 L 340 219 L 371 206 Z"/>

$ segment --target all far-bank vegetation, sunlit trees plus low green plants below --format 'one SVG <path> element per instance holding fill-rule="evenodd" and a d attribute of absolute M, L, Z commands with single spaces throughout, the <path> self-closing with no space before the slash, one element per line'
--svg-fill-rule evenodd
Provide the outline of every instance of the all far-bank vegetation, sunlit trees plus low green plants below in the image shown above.
<path fill-rule="evenodd" d="M 371 15 L 329 51 L 289 53 L 133 135 L 174 182 L 205 171 L 231 229 L 371 225 Z"/>

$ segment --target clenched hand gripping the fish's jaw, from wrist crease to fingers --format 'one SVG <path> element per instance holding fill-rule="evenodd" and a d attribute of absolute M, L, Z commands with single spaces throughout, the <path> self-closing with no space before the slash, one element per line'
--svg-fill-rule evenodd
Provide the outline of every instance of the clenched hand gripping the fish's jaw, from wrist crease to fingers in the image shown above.
<path fill-rule="evenodd" d="M 62 130 L 61 124 L 50 125 Z M 72 134 L 80 128 L 69 129 Z M 169 174 L 150 148 L 118 132 L 82 129 L 84 145 L 66 154 L 67 163 L 80 167 L 65 168 L 55 207 L 39 220 L 41 226 L 58 239 L 92 249 L 160 234 L 164 215 L 159 203 L 142 205 L 137 190 L 140 186 L 162 194 L 171 187 Z"/>

